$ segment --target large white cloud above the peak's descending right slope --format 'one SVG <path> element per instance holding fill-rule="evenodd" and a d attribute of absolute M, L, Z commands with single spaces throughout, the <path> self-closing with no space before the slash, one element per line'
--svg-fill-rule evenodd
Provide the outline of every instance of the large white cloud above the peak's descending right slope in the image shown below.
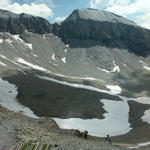
<path fill-rule="evenodd" d="M 150 29 L 149 0 L 91 0 L 90 7 L 134 18 L 137 24 Z"/>

